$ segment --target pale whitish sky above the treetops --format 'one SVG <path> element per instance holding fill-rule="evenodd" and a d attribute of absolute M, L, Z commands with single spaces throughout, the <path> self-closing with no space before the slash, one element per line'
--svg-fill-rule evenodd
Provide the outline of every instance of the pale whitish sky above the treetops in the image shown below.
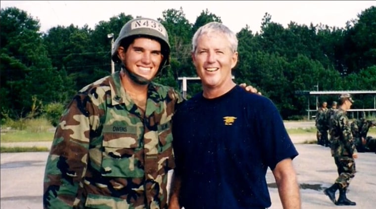
<path fill-rule="evenodd" d="M 260 30 L 261 21 L 268 12 L 272 21 L 287 27 L 290 21 L 297 24 L 310 25 L 313 23 L 336 27 L 345 27 L 346 21 L 357 19 L 357 15 L 365 9 L 376 5 L 376 0 L 323 0 L 323 1 L 164 1 L 164 0 L 1 0 L 1 8 L 15 6 L 25 10 L 31 16 L 40 20 L 41 31 L 57 25 L 69 26 L 74 24 L 82 27 L 87 24 L 90 28 L 99 21 L 109 21 L 110 17 L 121 12 L 126 15 L 158 18 L 166 9 L 183 8 L 186 18 L 194 23 L 201 11 L 206 8 L 209 12 L 221 17 L 222 22 L 237 33 L 246 24 L 253 33 Z M 120 30 L 120 29 L 119 29 Z M 117 32 L 115 32 L 117 33 Z"/>

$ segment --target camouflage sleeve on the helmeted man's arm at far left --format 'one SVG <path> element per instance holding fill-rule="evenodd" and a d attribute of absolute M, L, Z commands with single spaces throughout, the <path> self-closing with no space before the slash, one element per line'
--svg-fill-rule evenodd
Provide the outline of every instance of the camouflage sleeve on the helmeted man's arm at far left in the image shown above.
<path fill-rule="evenodd" d="M 89 138 L 99 123 L 97 112 L 90 97 L 79 94 L 60 118 L 45 169 L 45 209 L 73 208 L 79 204 L 88 165 Z"/>

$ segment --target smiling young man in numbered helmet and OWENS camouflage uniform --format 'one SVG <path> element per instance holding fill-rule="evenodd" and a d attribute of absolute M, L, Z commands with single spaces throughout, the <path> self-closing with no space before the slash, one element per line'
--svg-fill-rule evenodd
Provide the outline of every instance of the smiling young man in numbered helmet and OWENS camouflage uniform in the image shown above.
<path fill-rule="evenodd" d="M 171 118 L 183 101 L 172 87 L 152 82 L 170 61 L 167 31 L 153 19 L 130 20 L 111 55 L 121 70 L 80 90 L 56 128 L 45 209 L 167 208 L 167 174 L 175 167 Z"/>

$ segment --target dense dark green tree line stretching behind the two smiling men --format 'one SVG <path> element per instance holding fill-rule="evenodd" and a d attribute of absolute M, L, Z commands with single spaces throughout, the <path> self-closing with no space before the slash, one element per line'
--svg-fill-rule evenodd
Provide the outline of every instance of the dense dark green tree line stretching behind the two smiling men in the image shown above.
<path fill-rule="evenodd" d="M 94 29 L 56 26 L 40 32 L 38 19 L 16 7 L 0 13 L 1 118 L 39 117 L 66 105 L 87 84 L 111 73 L 107 34 L 116 39 L 134 17 L 120 13 Z M 191 62 L 194 32 L 221 17 L 203 10 L 190 23 L 183 8 L 167 9 L 158 20 L 166 27 L 171 64 L 155 81 L 180 90 L 178 77 L 196 76 Z M 291 21 L 286 28 L 265 13 L 260 32 L 246 25 L 236 33 L 239 60 L 236 83 L 256 87 L 279 108 L 283 119 L 306 114 L 307 98 L 296 91 L 376 90 L 376 7 L 346 22 L 345 28 Z M 119 66 L 115 66 L 119 70 Z M 188 98 L 200 91 L 188 85 Z M 373 106 L 367 96 L 356 96 L 354 108 Z M 333 101 L 333 96 L 321 98 Z M 316 104 L 311 104 L 315 107 Z"/>

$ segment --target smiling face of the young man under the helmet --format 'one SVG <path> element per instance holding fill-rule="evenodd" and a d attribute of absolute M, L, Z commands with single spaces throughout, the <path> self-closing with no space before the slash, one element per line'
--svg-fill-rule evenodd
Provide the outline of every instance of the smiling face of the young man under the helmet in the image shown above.
<path fill-rule="evenodd" d="M 127 49 L 119 47 L 118 54 L 130 72 L 147 80 L 154 78 L 163 59 L 160 43 L 149 38 L 136 38 Z"/>

